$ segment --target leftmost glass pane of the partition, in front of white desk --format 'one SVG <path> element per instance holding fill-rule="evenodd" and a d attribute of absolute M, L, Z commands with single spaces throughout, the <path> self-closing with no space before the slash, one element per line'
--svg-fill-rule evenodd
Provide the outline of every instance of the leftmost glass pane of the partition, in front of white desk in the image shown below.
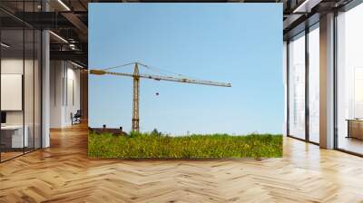
<path fill-rule="evenodd" d="M 24 31 L 1 31 L 1 160 L 24 153 Z"/>

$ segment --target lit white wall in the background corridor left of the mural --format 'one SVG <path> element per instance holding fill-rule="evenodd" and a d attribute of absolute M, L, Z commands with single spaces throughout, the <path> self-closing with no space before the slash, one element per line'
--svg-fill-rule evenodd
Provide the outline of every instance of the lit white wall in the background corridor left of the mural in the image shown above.
<path fill-rule="evenodd" d="M 71 113 L 79 109 L 80 71 L 72 63 L 51 61 L 50 128 L 72 125 Z"/>

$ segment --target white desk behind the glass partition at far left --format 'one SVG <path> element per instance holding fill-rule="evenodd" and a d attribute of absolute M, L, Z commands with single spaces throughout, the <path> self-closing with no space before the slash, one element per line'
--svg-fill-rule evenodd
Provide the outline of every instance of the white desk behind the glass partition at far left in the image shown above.
<path fill-rule="evenodd" d="M 11 147 L 12 148 L 23 148 L 28 147 L 29 145 L 29 138 L 28 138 L 28 131 L 29 128 L 25 125 L 25 133 L 24 133 L 24 140 L 23 140 L 23 125 L 5 125 L 1 126 L 2 133 L 12 133 L 11 134 Z M 23 145 L 24 144 L 24 145 Z"/>

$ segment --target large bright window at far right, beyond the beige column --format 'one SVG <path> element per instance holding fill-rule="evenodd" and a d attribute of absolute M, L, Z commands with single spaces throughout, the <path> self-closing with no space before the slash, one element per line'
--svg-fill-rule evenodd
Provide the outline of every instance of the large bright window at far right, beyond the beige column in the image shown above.
<path fill-rule="evenodd" d="M 337 145 L 363 154 L 363 4 L 338 14 Z"/>

